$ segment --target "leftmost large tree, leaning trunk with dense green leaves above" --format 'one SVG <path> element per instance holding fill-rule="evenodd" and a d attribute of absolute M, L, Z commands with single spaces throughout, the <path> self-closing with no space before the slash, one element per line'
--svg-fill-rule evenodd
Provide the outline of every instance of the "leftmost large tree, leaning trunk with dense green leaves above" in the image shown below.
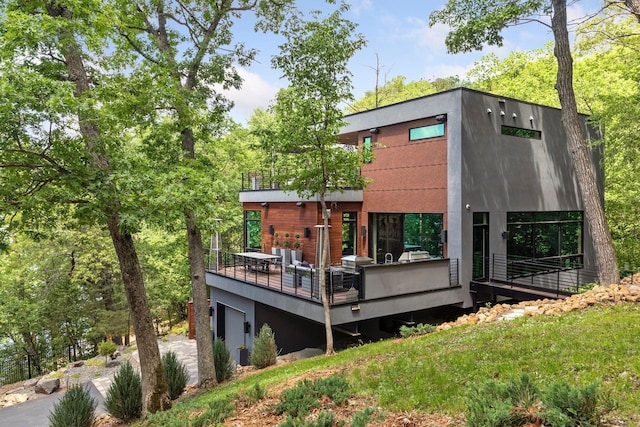
<path fill-rule="evenodd" d="M 124 81 L 104 72 L 112 63 L 100 61 L 112 35 L 110 11 L 94 1 L 3 3 L 0 200 L 14 225 L 77 216 L 109 231 L 136 334 L 146 413 L 170 401 L 133 239 L 139 206 L 120 186 L 127 175 L 120 175 L 119 149 L 130 121 L 107 112 L 118 105 Z"/>

